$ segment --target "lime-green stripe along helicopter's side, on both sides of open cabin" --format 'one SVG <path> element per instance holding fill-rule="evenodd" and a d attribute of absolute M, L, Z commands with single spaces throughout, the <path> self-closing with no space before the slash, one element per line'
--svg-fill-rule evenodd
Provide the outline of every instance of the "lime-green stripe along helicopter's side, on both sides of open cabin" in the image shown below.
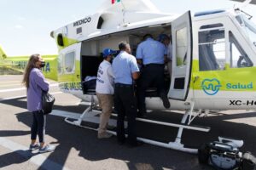
<path fill-rule="evenodd" d="M 65 68 L 61 68 L 58 75 L 59 82 L 80 82 L 80 61 L 76 60 L 75 70 L 67 73 Z M 190 89 L 211 91 L 213 95 L 217 91 L 256 91 L 256 79 L 253 72 L 256 67 L 230 68 L 225 66 L 225 70 L 199 71 L 198 60 L 193 60 L 192 78 Z"/>

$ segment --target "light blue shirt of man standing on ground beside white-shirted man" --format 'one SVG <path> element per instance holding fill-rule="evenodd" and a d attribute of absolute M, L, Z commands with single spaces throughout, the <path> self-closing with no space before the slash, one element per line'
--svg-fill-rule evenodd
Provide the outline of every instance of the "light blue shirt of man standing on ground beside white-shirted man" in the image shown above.
<path fill-rule="evenodd" d="M 137 60 L 131 54 L 121 51 L 113 59 L 112 64 L 114 83 L 132 84 L 131 73 L 138 72 Z"/>

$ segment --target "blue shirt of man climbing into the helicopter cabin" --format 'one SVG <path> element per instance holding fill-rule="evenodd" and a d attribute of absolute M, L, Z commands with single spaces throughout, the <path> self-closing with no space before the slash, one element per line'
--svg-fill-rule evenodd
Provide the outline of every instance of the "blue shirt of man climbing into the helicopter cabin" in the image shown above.
<path fill-rule="evenodd" d="M 165 54 L 167 54 L 165 45 L 148 37 L 138 45 L 136 58 L 143 59 L 143 65 L 164 64 Z"/>

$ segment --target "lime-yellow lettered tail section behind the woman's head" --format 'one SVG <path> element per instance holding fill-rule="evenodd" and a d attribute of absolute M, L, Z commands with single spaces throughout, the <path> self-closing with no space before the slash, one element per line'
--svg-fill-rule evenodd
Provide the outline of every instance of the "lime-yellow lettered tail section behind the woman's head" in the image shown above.
<path fill-rule="evenodd" d="M 58 80 L 57 75 L 57 55 L 42 55 L 45 60 L 43 68 L 44 76 L 51 80 Z M 27 56 L 7 56 L 0 46 L 0 74 L 22 74 L 26 68 L 29 55 Z"/>

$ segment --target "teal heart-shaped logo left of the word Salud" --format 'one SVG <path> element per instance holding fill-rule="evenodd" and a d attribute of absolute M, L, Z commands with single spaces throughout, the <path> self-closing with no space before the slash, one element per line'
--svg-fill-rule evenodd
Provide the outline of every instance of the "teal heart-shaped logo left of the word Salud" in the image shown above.
<path fill-rule="evenodd" d="M 205 79 L 203 82 L 201 82 L 201 88 L 208 95 L 217 94 L 220 87 L 220 82 L 216 78 Z"/>

